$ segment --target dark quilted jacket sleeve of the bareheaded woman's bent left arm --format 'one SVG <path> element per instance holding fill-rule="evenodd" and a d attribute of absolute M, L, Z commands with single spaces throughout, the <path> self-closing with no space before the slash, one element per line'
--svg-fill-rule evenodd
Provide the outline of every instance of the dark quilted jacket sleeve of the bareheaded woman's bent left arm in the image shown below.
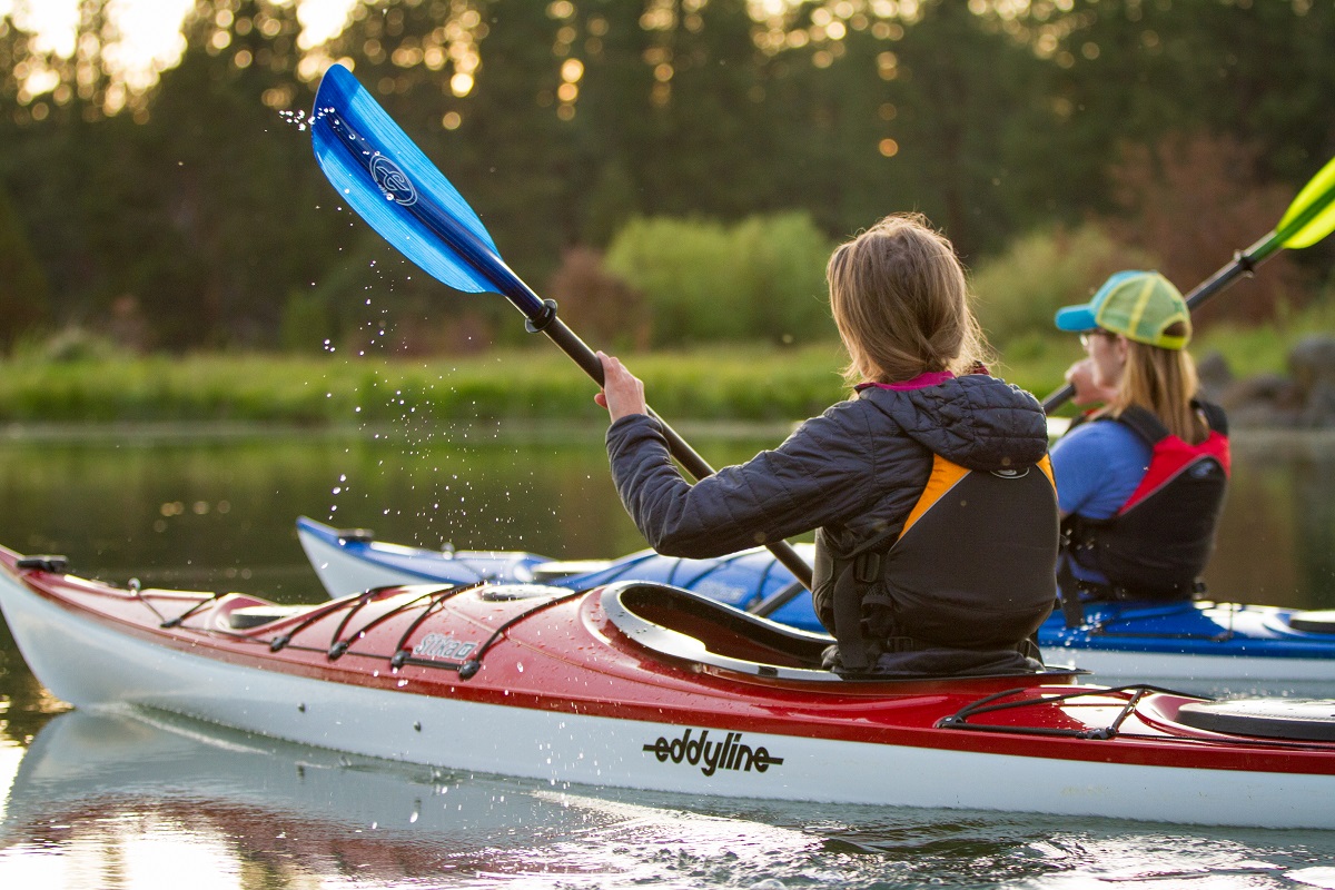
<path fill-rule="evenodd" d="M 865 414 L 837 408 L 696 484 L 672 462 L 657 420 L 622 418 L 607 430 L 617 492 L 649 544 L 669 556 L 721 556 L 810 531 L 865 507 L 880 487 Z"/>

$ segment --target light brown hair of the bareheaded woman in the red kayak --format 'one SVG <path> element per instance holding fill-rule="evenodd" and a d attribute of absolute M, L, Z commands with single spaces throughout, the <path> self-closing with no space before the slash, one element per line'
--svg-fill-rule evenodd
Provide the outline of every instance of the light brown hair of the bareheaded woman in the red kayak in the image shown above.
<path fill-rule="evenodd" d="M 825 270 L 850 383 L 967 374 L 985 360 L 983 331 L 955 247 L 921 213 L 886 216 L 834 250 Z"/>

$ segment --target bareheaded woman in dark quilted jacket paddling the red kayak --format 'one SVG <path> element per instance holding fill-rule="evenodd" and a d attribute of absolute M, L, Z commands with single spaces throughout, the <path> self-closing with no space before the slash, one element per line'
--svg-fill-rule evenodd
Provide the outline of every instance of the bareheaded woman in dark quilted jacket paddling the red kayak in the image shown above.
<path fill-rule="evenodd" d="M 983 338 L 951 243 L 889 216 L 826 270 L 848 400 L 773 451 L 694 486 L 643 384 L 599 354 L 622 503 L 661 554 L 709 558 L 816 530 L 826 666 L 921 677 L 1037 670 L 1057 507 L 1032 395 L 980 372 Z"/>

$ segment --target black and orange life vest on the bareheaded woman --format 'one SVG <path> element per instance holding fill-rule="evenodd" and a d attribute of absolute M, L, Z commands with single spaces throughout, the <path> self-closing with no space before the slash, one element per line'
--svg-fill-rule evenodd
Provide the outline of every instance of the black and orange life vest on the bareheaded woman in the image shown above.
<path fill-rule="evenodd" d="M 881 652 L 1037 656 L 1029 638 L 1052 612 L 1059 542 L 1047 456 L 987 472 L 933 455 L 902 530 L 848 551 L 817 532 L 812 596 L 850 673 L 874 667 Z"/>

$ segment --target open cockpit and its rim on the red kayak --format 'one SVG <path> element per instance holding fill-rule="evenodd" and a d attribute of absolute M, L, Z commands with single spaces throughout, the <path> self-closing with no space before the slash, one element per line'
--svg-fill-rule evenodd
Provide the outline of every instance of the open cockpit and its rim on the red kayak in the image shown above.
<path fill-rule="evenodd" d="M 812 683 L 921 683 L 945 677 L 889 678 L 849 675 L 822 667 L 828 634 L 813 634 L 720 603 L 694 591 L 651 582 L 619 582 L 598 590 L 607 620 L 647 650 L 689 662 L 705 671 Z M 1025 683 L 1069 683 L 1087 671 L 1052 667 L 1011 675 Z M 964 675 L 951 675 L 961 679 Z M 975 677 L 969 677 L 973 679 Z"/>

